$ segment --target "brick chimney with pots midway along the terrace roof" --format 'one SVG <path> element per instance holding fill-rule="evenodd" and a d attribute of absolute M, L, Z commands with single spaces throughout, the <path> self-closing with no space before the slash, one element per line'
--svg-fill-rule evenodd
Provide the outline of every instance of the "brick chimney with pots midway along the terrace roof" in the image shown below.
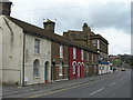
<path fill-rule="evenodd" d="M 47 19 L 47 21 L 43 22 L 43 26 L 44 26 L 44 30 L 47 30 L 48 32 L 53 32 L 54 33 L 55 22 Z"/>

